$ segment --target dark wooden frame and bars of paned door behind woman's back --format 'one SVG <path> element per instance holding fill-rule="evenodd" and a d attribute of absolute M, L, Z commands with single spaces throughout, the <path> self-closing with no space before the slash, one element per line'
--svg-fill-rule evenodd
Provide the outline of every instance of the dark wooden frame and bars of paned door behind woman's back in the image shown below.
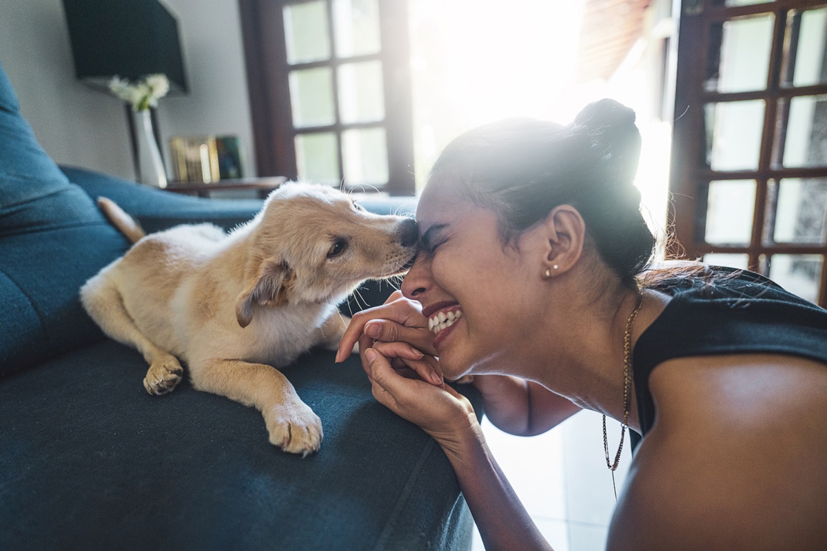
<path fill-rule="evenodd" d="M 671 207 L 669 228 L 673 240 L 667 254 L 672 258 L 696 259 L 707 253 L 748 254 L 749 268 L 766 271 L 761 259 L 772 254 L 820 254 L 819 304 L 827 306 L 827 244 L 801 245 L 763 242 L 767 224 L 767 183 L 782 178 L 827 178 L 827 167 L 784 168 L 774 162 L 773 144 L 784 138 L 786 124 L 776 128 L 779 100 L 798 96 L 827 94 L 827 83 L 794 88 L 781 85 L 785 54 L 787 14 L 791 10 L 827 7 L 825 0 L 776 0 L 749 6 L 716 6 L 715 0 L 689 0 L 681 7 L 678 36 L 675 94 L 675 123 L 672 136 L 670 172 Z M 734 17 L 773 13 L 772 49 L 767 72 L 767 88 L 755 92 L 720 93 L 704 90 L 706 63 L 710 46 L 710 27 Z M 797 36 L 786 48 L 796 50 Z M 794 63 L 794 59 L 793 59 Z M 766 102 L 758 169 L 715 171 L 705 163 L 704 106 L 712 102 L 763 99 Z M 789 102 L 786 103 L 789 106 Z M 788 107 L 787 107 L 788 108 Z M 785 117 L 786 120 L 786 117 Z M 783 143 L 778 142 L 778 143 Z M 746 246 L 710 245 L 705 242 L 706 193 L 711 181 L 755 180 L 757 183 L 753 230 Z M 772 224 L 772 221 L 769 221 Z M 772 235 L 772 233 L 769 233 Z"/>

